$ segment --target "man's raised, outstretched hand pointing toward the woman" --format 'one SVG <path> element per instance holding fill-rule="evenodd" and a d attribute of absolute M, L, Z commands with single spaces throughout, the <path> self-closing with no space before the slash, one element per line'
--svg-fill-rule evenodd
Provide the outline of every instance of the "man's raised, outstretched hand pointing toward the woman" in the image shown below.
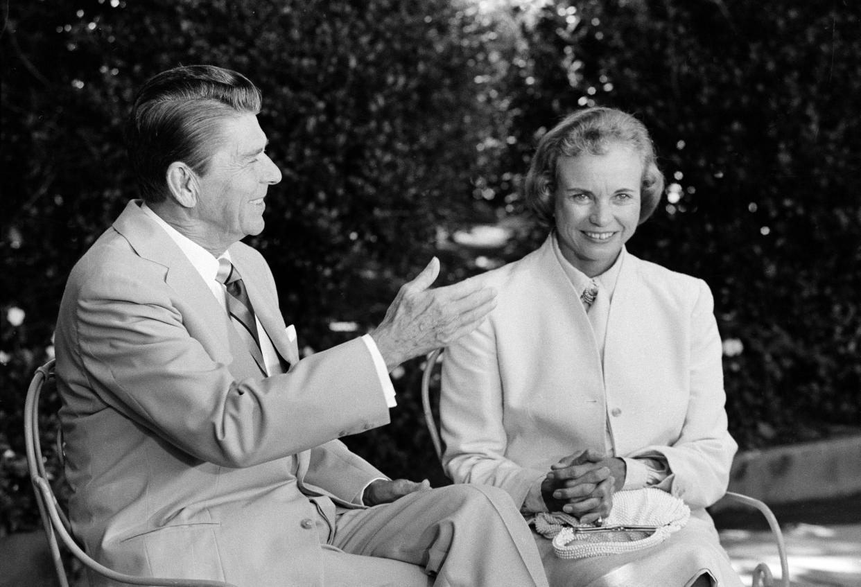
<path fill-rule="evenodd" d="M 491 287 L 461 281 L 430 289 L 437 275 L 435 256 L 414 280 L 400 287 L 386 318 L 370 332 L 389 371 L 474 331 L 496 306 L 496 290 Z"/>

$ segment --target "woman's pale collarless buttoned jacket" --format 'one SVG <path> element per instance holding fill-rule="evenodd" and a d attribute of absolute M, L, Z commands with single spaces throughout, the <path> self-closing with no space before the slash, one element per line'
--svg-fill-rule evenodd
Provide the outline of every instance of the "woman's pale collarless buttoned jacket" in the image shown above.
<path fill-rule="evenodd" d="M 443 361 L 443 462 L 460 483 L 507 490 L 515 504 L 563 456 L 663 455 L 661 487 L 694 508 L 726 491 L 737 448 L 727 431 L 722 343 L 709 287 L 623 250 L 604 369 L 579 292 L 551 238 L 474 279 L 499 291 L 490 318 Z"/>

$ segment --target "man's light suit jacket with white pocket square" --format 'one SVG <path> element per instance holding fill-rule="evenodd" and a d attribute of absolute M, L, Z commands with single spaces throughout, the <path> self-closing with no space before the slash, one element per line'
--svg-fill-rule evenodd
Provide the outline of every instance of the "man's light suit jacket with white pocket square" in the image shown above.
<path fill-rule="evenodd" d="M 263 257 L 241 243 L 230 254 L 275 348 L 297 356 Z M 384 477 L 333 440 L 388 423 L 361 340 L 261 378 L 188 258 L 133 201 L 71 271 L 56 347 L 71 520 L 96 559 L 320 584 L 316 511 L 333 524 L 335 504 L 356 507 Z"/>

